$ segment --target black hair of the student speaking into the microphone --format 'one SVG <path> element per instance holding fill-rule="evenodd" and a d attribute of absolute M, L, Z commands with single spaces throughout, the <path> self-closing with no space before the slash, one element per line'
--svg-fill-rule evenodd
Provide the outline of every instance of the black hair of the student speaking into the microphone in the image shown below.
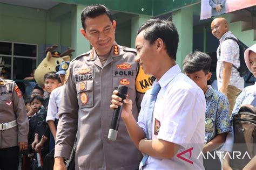
<path fill-rule="evenodd" d="M 171 59 L 176 60 L 179 34 L 176 26 L 169 20 L 159 18 L 149 19 L 139 27 L 138 34 L 144 31 L 143 38 L 154 44 L 158 38 L 164 41 L 166 52 Z"/>

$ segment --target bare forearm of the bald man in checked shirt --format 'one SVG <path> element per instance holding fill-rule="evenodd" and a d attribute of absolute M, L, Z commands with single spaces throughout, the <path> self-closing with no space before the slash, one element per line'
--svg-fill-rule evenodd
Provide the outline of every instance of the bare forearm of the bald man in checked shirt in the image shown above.
<path fill-rule="evenodd" d="M 230 83 L 232 63 L 226 62 L 226 61 L 223 61 L 223 63 L 224 63 L 223 83 L 222 83 L 222 86 L 220 88 L 220 92 L 227 96 L 227 86 Z"/>

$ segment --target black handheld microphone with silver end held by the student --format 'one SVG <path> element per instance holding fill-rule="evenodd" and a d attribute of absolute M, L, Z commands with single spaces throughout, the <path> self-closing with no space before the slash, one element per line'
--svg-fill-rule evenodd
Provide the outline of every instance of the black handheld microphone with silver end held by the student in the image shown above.
<path fill-rule="evenodd" d="M 121 102 L 123 103 L 123 101 L 125 100 L 125 98 L 127 96 L 128 87 L 119 85 L 117 90 L 118 90 L 117 96 L 122 98 Z M 107 138 L 109 138 L 109 140 L 115 141 L 117 139 L 118 126 L 119 126 L 122 110 L 123 110 L 123 104 L 119 105 L 119 107 L 117 109 L 114 109 L 112 122 L 111 122 L 111 126 L 109 129 L 109 136 L 107 137 Z"/>

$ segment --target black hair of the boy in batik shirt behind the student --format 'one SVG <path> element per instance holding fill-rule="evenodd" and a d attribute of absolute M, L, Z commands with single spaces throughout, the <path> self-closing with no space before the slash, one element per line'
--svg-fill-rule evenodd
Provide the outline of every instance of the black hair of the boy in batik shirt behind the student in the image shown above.
<path fill-rule="evenodd" d="M 193 74 L 203 70 L 206 75 L 208 72 L 210 72 L 211 64 L 212 59 L 208 54 L 195 51 L 186 55 L 183 61 L 183 70 L 188 74 Z"/>

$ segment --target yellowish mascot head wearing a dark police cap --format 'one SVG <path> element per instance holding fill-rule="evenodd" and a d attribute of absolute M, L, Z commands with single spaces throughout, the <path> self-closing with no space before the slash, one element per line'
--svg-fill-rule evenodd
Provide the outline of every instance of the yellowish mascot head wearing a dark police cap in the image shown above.
<path fill-rule="evenodd" d="M 36 68 L 35 80 L 41 87 L 44 86 L 44 75 L 49 72 L 58 72 L 60 63 L 70 61 L 71 53 L 75 51 L 74 49 L 68 48 L 65 52 L 59 54 L 58 52 L 54 52 L 57 47 L 57 45 L 52 45 L 52 47 L 46 48 L 46 58 Z"/>

